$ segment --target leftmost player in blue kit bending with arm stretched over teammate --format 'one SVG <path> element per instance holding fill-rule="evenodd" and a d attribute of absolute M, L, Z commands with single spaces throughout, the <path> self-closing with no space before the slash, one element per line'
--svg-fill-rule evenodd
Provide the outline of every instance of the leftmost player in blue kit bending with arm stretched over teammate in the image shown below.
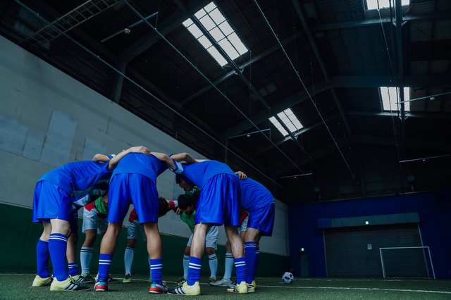
<path fill-rule="evenodd" d="M 70 231 L 70 216 L 73 205 L 84 206 L 80 200 L 87 193 L 99 192 L 96 185 L 108 181 L 111 170 L 121 158 L 131 152 L 149 154 L 149 149 L 132 147 L 111 158 L 102 154 L 101 160 L 67 163 L 43 175 L 35 187 L 32 221 L 42 223 L 44 230 L 37 243 L 37 276 L 33 287 L 50 285 L 51 291 L 82 291 L 90 288 L 73 280 L 66 269 L 67 236 Z M 97 159 L 94 156 L 94 159 Z M 49 275 L 49 258 L 54 266 L 54 279 Z"/>

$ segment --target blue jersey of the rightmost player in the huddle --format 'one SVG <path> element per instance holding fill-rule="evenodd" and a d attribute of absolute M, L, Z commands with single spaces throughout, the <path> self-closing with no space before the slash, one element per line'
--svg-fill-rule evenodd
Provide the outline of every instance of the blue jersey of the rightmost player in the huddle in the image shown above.
<path fill-rule="evenodd" d="M 250 179 L 240 180 L 241 203 L 240 207 L 249 212 L 256 207 L 266 206 L 274 201 L 271 192 L 259 182 Z"/>

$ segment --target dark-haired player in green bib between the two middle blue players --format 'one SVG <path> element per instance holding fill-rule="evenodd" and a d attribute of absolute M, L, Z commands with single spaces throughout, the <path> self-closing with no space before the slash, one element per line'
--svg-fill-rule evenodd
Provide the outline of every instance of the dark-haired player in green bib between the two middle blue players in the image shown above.
<path fill-rule="evenodd" d="M 181 181 L 180 177 L 177 175 L 175 177 L 175 182 L 179 183 Z M 191 191 L 196 190 L 196 187 Z M 199 199 L 200 189 L 197 192 L 188 192 L 189 194 L 183 194 L 178 196 L 178 209 L 175 211 L 177 215 L 185 222 L 192 232 L 190 239 L 188 240 L 187 246 L 185 248 L 185 255 L 183 256 L 183 277 L 178 280 L 178 285 L 183 285 L 183 282 L 187 280 L 188 268 L 190 263 L 190 250 L 192 237 L 194 233 L 194 225 L 196 222 L 196 206 Z M 209 283 L 216 282 L 216 271 L 218 270 L 218 257 L 216 256 L 216 242 L 218 241 L 218 227 L 211 226 L 209 231 L 206 233 L 205 237 L 205 250 L 206 254 L 209 256 L 209 266 L 210 266 L 210 278 Z"/>

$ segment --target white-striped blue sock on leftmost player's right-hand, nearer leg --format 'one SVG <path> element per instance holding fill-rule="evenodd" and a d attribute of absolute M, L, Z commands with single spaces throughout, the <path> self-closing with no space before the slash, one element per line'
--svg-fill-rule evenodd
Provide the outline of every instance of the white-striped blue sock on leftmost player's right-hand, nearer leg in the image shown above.
<path fill-rule="evenodd" d="M 68 249 L 67 235 L 53 233 L 49 237 L 49 252 L 51 264 L 54 266 L 56 280 L 64 281 L 68 279 L 66 268 L 66 251 Z"/>

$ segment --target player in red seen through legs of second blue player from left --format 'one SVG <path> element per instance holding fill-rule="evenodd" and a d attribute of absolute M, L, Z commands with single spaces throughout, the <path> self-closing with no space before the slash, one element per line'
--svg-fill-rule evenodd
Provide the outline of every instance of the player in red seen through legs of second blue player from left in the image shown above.
<path fill-rule="evenodd" d="M 159 200 L 159 218 L 163 215 L 166 215 L 168 211 L 171 211 L 173 208 L 176 208 L 177 201 L 168 201 L 164 199 L 162 196 L 158 196 Z M 133 256 L 135 254 L 135 246 L 137 243 L 137 237 L 139 233 L 142 232 L 142 238 L 144 242 L 147 242 L 146 233 L 144 232 L 144 226 L 140 224 L 140 220 L 138 220 L 138 216 L 136 214 L 135 208 L 130 212 L 130 216 L 128 218 L 128 226 L 127 226 L 127 248 L 125 248 L 124 254 L 124 264 L 125 264 L 125 276 L 123 279 L 123 283 L 132 282 L 132 263 Z M 152 283 L 152 267 L 151 261 L 149 258 L 149 282 Z"/>

